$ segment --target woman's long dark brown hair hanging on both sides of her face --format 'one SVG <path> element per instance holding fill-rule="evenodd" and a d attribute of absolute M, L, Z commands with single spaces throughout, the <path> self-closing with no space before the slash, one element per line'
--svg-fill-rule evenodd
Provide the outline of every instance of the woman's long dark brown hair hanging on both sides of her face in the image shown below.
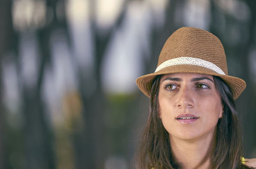
<path fill-rule="evenodd" d="M 216 147 L 211 159 L 211 168 L 245 168 L 241 163 L 243 154 L 242 134 L 232 92 L 220 78 L 213 77 L 214 84 L 223 103 L 223 117 L 219 119 L 216 130 Z M 159 118 L 158 92 L 161 75 L 152 82 L 150 93 L 150 114 L 141 138 L 136 168 L 172 169 L 182 168 L 172 156 L 170 137 Z"/>

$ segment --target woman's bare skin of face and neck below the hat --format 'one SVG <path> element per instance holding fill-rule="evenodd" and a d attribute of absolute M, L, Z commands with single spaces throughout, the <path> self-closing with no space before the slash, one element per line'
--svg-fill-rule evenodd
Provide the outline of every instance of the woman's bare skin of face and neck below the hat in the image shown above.
<path fill-rule="evenodd" d="M 170 134 L 173 155 L 183 168 L 210 167 L 216 124 L 222 114 L 220 94 L 211 75 L 173 73 L 161 78 L 159 117 Z"/>

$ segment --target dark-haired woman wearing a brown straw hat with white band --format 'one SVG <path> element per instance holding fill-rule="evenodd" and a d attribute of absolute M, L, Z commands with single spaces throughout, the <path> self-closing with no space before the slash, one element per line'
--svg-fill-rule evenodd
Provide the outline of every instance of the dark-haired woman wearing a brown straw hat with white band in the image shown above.
<path fill-rule="evenodd" d="M 216 36 L 178 29 L 164 44 L 156 71 L 136 84 L 150 98 L 137 168 L 248 168 L 234 105 L 246 83 L 228 75 Z"/>

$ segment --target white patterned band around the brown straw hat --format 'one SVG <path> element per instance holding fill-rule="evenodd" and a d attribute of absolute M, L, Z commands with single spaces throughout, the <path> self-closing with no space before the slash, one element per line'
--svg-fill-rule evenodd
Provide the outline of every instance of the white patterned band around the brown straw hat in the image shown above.
<path fill-rule="evenodd" d="M 201 66 L 203 68 L 208 68 L 209 70 L 215 71 L 216 73 L 220 75 L 225 75 L 224 71 L 221 70 L 216 64 L 213 64 L 212 62 L 205 61 L 203 59 L 198 59 L 195 57 L 177 57 L 174 59 L 170 59 L 168 61 L 165 61 L 161 63 L 157 68 L 156 71 L 162 70 L 163 68 L 169 67 L 169 66 L 175 66 L 180 64 L 189 64 L 189 65 L 195 65 L 195 66 Z"/>

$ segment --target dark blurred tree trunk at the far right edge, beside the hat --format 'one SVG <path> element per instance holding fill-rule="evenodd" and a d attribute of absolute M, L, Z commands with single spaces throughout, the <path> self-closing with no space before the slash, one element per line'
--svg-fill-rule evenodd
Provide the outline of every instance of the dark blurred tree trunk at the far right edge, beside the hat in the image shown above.
<path fill-rule="evenodd" d="M 246 111 L 243 118 L 245 149 L 249 152 L 247 156 L 255 158 L 256 147 L 256 135 L 255 135 L 255 119 L 256 119 L 256 105 L 255 105 L 255 80 L 252 79 L 252 73 L 250 70 L 250 52 L 255 49 L 255 37 L 256 37 L 256 1 L 244 0 L 244 3 L 248 5 L 250 9 L 250 19 L 248 20 L 248 27 L 246 29 L 248 34 L 248 40 L 246 43 L 238 47 L 239 62 L 243 66 L 243 78 L 246 81 L 246 90 L 243 94 L 243 102 L 241 103 L 241 113 Z M 254 56 L 255 57 L 255 56 Z M 239 101 L 242 101 L 241 99 Z M 252 149 L 254 147 L 254 149 Z M 254 154 L 253 154 L 254 151 Z M 249 158 L 248 157 L 248 158 Z"/>

